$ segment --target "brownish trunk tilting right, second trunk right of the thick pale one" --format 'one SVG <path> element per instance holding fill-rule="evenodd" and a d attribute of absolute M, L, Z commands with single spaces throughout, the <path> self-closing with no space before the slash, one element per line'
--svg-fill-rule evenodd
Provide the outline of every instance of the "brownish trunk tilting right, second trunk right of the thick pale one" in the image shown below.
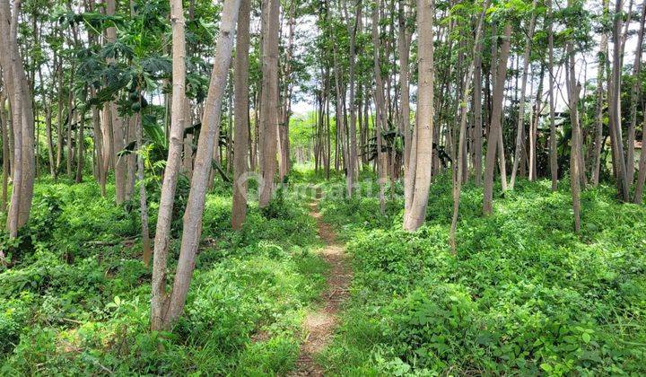
<path fill-rule="evenodd" d="M 493 106 L 491 126 L 487 137 L 487 151 L 485 157 L 485 197 L 483 200 L 483 212 L 490 215 L 493 211 L 493 170 L 495 169 L 496 148 L 502 145 L 502 99 L 504 97 L 504 84 L 507 75 L 507 60 L 509 59 L 511 45 L 511 23 L 504 28 L 504 37 L 500 59 L 497 63 L 497 73 L 493 84 Z M 493 63 L 492 63 L 493 64 Z M 503 155 L 500 156 L 503 161 Z M 505 177 L 501 176 L 504 181 Z"/>

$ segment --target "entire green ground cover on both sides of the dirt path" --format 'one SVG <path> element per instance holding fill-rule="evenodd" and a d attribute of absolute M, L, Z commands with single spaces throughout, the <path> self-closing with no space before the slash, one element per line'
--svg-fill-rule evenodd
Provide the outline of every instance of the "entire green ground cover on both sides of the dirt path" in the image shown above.
<path fill-rule="evenodd" d="M 362 195 L 348 199 L 341 174 L 293 171 L 271 206 L 250 204 L 241 232 L 231 230 L 231 190 L 215 187 L 185 315 L 153 333 L 136 201 L 114 206 L 94 183 L 41 180 L 20 240 L 0 238 L 13 260 L 0 270 L 0 374 L 289 373 L 327 273 L 313 252 L 321 243 L 309 185 L 334 193 L 319 206 L 354 268 L 319 359 L 328 374 L 646 373 L 645 206 L 586 189 L 574 234 L 566 181 L 556 192 L 547 181 L 520 180 L 504 195 L 498 187 L 488 217 L 482 189 L 467 184 L 452 255 L 448 177 L 433 182 L 414 233 L 401 230 L 398 183 L 382 216 L 374 177 L 360 182 Z M 181 183 L 176 238 L 187 192 Z M 178 249 L 173 241 L 170 260 Z"/>

